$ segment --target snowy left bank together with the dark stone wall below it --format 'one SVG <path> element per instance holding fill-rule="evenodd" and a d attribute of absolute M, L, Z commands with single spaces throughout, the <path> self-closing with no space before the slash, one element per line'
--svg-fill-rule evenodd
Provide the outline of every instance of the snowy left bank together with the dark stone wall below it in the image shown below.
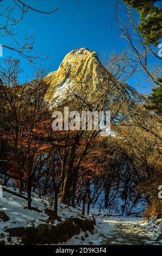
<path fill-rule="evenodd" d="M 14 188 L 10 191 L 18 193 Z M 88 229 L 94 230 L 92 216 L 82 216 L 79 208 L 59 202 L 56 216 L 50 198 L 39 197 L 36 193 L 32 194 L 32 206 L 33 210 L 28 210 L 25 200 L 3 192 L 0 201 L 0 245 L 57 244 L 79 234 L 80 228 L 83 237 Z M 83 222 L 84 227 L 78 226 L 77 221 Z M 71 230 L 65 236 L 66 228 Z"/>

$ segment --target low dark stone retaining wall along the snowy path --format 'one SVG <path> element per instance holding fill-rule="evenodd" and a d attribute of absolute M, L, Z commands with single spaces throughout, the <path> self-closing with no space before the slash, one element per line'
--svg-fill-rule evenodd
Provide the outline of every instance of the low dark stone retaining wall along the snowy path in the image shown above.
<path fill-rule="evenodd" d="M 38 227 L 17 227 L 5 229 L 10 236 L 18 236 L 24 245 L 50 245 L 63 243 L 81 231 L 94 230 L 95 220 L 71 217 L 57 225 L 39 224 Z"/>

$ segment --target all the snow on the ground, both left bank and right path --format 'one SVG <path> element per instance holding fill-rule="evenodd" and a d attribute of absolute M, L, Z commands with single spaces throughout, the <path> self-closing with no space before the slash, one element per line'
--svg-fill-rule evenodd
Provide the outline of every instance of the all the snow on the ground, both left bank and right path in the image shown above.
<path fill-rule="evenodd" d="M 15 191 L 14 188 L 9 188 Z M 18 191 L 17 191 L 18 192 Z M 25 193 L 24 193 L 25 194 Z M 45 208 L 53 209 L 52 203 L 48 198 L 39 198 L 37 194 L 32 195 L 32 206 L 41 210 L 41 212 L 28 210 L 27 201 L 14 196 L 8 192 L 3 192 L 3 198 L 0 198 L 0 211 L 4 211 L 9 216 L 9 221 L 0 222 L 0 234 L 7 236 L 4 231 L 6 228 L 27 227 L 44 223 L 48 219 Z M 49 204 L 50 203 L 50 204 Z M 58 216 L 61 221 L 67 217 L 82 217 L 82 209 L 72 208 L 59 202 Z M 96 227 L 92 232 L 81 232 L 73 236 L 65 245 L 161 245 L 162 244 L 162 220 L 152 217 L 149 221 L 142 220 L 141 217 L 121 217 L 109 216 L 108 213 L 98 214 L 97 209 L 91 208 L 91 215 L 96 218 Z M 88 216 L 86 216 L 88 217 Z M 58 220 L 54 220 L 56 225 Z M 0 236 L 0 242 L 4 237 Z M 12 243 L 6 241 L 6 244 L 18 244 L 20 241 L 13 237 Z"/>

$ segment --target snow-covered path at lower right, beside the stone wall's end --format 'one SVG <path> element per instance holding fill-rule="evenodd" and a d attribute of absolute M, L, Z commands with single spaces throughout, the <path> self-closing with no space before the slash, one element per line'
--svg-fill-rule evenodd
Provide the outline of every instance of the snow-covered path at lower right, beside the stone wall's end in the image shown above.
<path fill-rule="evenodd" d="M 158 221 L 161 223 L 161 220 Z M 97 217 L 93 232 L 73 236 L 65 245 L 161 245 L 141 218 Z M 158 230 L 159 234 L 160 230 Z M 88 237 L 87 237 L 88 236 Z"/>

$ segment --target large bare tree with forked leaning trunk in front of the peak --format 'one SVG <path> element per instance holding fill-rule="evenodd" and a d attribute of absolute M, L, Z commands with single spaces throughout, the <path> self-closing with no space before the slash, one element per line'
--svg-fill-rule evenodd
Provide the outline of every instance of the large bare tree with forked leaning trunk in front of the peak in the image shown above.
<path fill-rule="evenodd" d="M 84 74 L 80 72 L 77 91 L 69 88 L 66 97 L 57 110 L 63 109 L 64 106 L 69 107 L 73 111 L 103 111 L 111 109 L 113 94 L 119 96 L 119 103 L 112 112 L 111 120 L 113 120 L 120 111 L 124 102 L 124 94 L 122 88 L 124 82 L 129 78 L 136 69 L 136 62 L 129 64 L 129 56 L 122 53 L 121 56 L 110 56 L 107 61 L 107 69 L 103 68 L 103 79 L 98 82 L 96 89 L 92 89 L 94 84 L 91 83 L 91 76 L 86 83 L 83 83 Z M 53 106 L 56 108 L 55 102 Z M 86 124 L 87 125 L 87 124 Z M 78 180 L 78 172 L 80 163 L 90 149 L 91 141 L 98 136 L 100 130 L 92 131 L 51 131 L 51 124 L 47 127 L 48 135 L 43 139 L 49 141 L 53 148 L 57 149 L 61 166 L 60 178 L 60 196 L 64 203 L 69 203 L 73 197 L 72 193 L 76 191 L 75 184 Z M 78 156 L 78 157 L 77 157 Z M 73 192 L 72 192 L 73 191 Z"/>

